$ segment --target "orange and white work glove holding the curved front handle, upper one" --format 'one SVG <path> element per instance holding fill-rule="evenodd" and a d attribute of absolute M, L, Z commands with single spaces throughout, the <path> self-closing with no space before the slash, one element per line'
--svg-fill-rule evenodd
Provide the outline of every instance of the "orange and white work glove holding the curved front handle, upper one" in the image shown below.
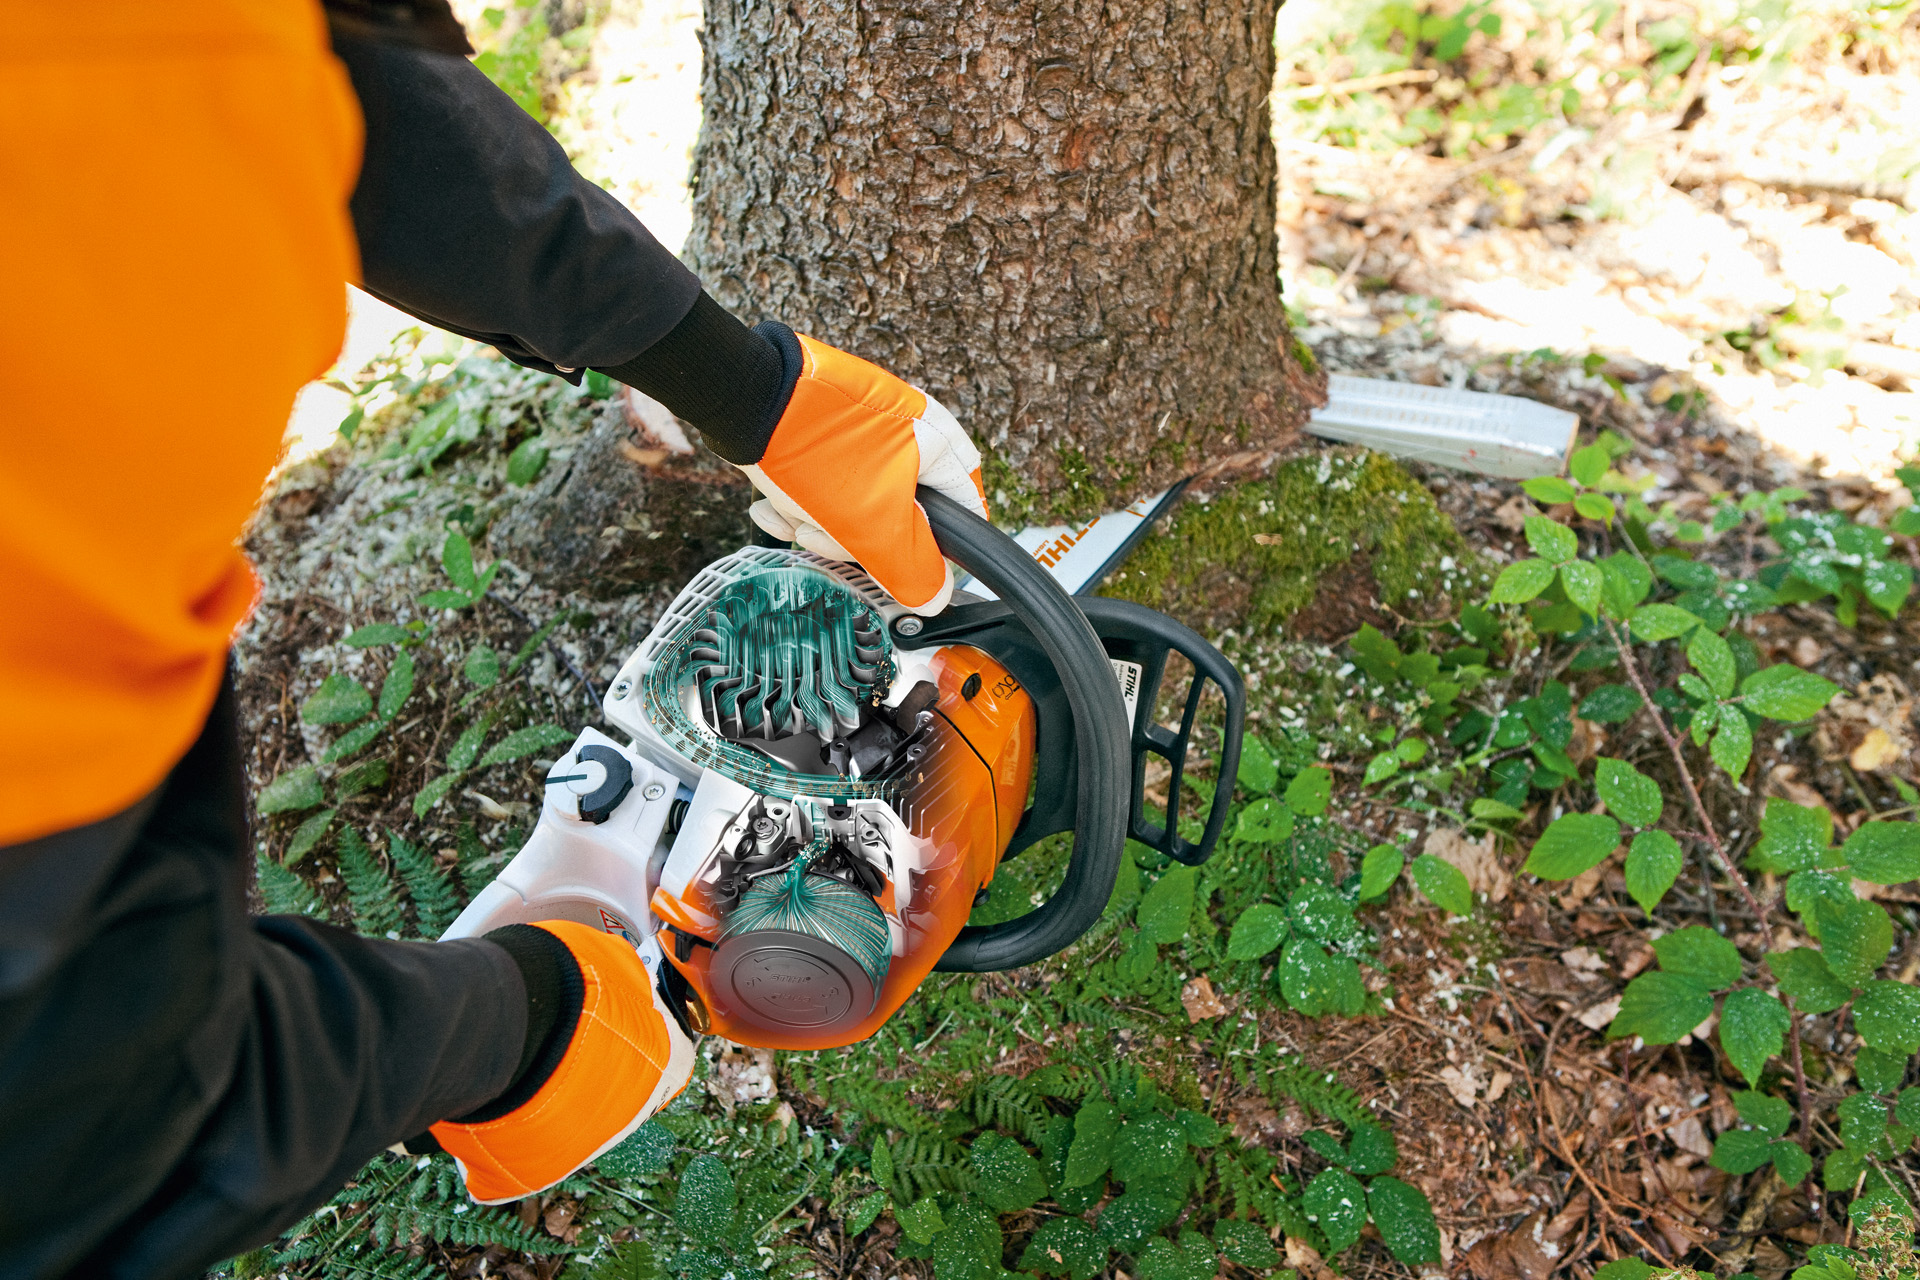
<path fill-rule="evenodd" d="M 791 334 L 772 324 L 760 332 L 774 328 L 783 330 L 776 342 Z M 920 388 L 804 334 L 793 338 L 801 347 L 793 395 L 766 453 L 741 466 L 762 493 L 749 509 L 753 522 L 829 560 L 858 562 L 916 614 L 941 612 L 952 566 L 914 487 L 939 489 L 985 518 L 979 449 Z"/>

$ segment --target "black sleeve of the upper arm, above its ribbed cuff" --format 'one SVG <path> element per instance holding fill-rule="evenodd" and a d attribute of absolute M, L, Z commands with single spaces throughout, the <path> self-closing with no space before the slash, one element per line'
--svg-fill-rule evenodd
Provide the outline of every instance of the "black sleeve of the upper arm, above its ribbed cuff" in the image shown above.
<path fill-rule="evenodd" d="M 353 228 L 369 294 L 547 372 L 620 367 L 699 278 L 457 54 L 334 23 L 367 119 Z"/>

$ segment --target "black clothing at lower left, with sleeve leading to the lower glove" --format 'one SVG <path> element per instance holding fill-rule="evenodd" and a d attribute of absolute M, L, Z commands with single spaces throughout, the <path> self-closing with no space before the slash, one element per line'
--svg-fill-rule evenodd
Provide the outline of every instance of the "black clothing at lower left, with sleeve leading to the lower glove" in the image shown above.
<path fill-rule="evenodd" d="M 228 685 L 146 800 L 0 848 L 0 1276 L 198 1274 L 511 1082 L 509 954 L 248 917 L 246 804 Z"/>

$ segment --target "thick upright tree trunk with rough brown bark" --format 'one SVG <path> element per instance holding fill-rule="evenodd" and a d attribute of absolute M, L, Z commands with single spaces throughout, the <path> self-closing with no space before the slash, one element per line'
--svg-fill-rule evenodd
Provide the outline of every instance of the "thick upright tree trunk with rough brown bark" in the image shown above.
<path fill-rule="evenodd" d="M 707 0 L 687 257 L 927 388 L 1016 514 L 1256 464 L 1321 397 L 1275 267 L 1275 10 Z"/>

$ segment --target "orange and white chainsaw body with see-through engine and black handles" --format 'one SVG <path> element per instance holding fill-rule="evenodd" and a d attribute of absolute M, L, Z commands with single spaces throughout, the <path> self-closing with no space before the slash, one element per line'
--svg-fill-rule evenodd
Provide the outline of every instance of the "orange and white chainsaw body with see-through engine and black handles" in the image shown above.
<path fill-rule="evenodd" d="M 1164 614 L 1068 595 L 947 497 L 920 503 L 972 591 L 920 618 L 812 553 L 708 564 L 607 689 L 626 741 L 582 729 L 532 837 L 445 936 L 536 919 L 618 933 L 689 1034 L 814 1050 L 870 1036 L 935 969 L 1069 946 L 1106 908 L 1129 837 L 1204 862 L 1238 768 L 1233 666 Z M 1183 697 L 1162 689 L 1173 654 Z M 1208 791 L 1187 766 L 1210 697 Z M 1152 783 L 1150 760 L 1165 770 Z M 1183 831 L 1188 796 L 1208 804 Z M 1044 904 L 968 923 L 1004 860 L 1066 831 Z"/>

